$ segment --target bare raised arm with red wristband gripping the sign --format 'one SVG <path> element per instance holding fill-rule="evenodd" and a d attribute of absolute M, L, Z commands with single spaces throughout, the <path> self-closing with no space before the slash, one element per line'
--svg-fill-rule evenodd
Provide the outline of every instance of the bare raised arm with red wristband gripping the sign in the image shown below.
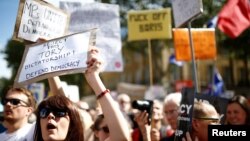
<path fill-rule="evenodd" d="M 113 100 L 110 92 L 104 86 L 102 80 L 99 77 L 101 69 L 101 61 L 99 59 L 99 52 L 96 48 L 90 50 L 87 61 L 87 70 L 85 72 L 85 78 L 88 81 L 91 88 L 94 90 L 96 96 L 103 94 L 98 98 L 101 105 L 105 121 L 108 124 L 110 130 L 110 141 L 128 141 L 130 140 L 130 132 L 126 122 L 126 119 L 122 115 L 117 103 Z"/>

